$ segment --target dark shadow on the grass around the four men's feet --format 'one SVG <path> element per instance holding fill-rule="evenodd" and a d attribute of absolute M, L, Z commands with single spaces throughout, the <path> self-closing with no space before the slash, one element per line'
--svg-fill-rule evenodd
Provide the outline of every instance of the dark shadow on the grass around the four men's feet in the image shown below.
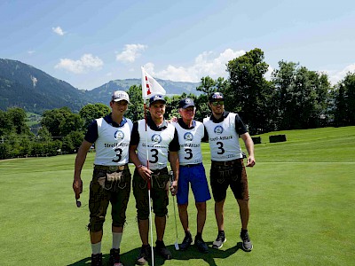
<path fill-rule="evenodd" d="M 212 242 L 206 242 L 208 246 L 212 245 Z M 230 255 L 236 253 L 238 249 L 241 249 L 241 242 L 237 243 L 237 245 L 230 247 L 226 250 L 214 249 L 209 247 L 208 254 L 201 254 L 195 246 L 190 246 L 186 251 L 178 251 L 175 250 L 174 245 L 167 246 L 172 254 L 172 260 L 178 261 L 187 261 L 201 259 L 205 262 L 209 263 L 209 266 L 217 266 L 215 259 L 225 259 Z M 121 254 L 121 261 L 124 265 L 130 266 L 135 265 L 136 259 L 139 254 L 140 247 L 130 250 L 129 252 Z M 242 249 L 241 249 L 242 250 Z M 108 258 L 110 254 L 103 254 L 103 264 L 106 265 L 108 263 Z M 154 265 L 161 266 L 163 265 L 165 260 L 162 257 L 154 252 Z M 81 266 L 81 265 L 91 265 L 91 257 L 84 258 L 79 262 L 75 262 L 73 264 L 68 264 L 69 266 Z M 146 265 L 152 265 L 152 262 L 149 261 Z"/>

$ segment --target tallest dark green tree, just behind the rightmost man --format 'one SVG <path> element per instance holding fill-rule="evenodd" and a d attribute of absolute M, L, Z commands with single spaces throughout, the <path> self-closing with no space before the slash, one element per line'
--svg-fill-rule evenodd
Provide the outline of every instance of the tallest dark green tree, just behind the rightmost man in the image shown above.
<path fill-rule="evenodd" d="M 227 64 L 230 86 L 225 96 L 227 110 L 241 114 L 251 134 L 264 131 L 268 121 L 268 96 L 272 90 L 270 82 L 264 79 L 268 65 L 264 52 L 256 48 Z"/>

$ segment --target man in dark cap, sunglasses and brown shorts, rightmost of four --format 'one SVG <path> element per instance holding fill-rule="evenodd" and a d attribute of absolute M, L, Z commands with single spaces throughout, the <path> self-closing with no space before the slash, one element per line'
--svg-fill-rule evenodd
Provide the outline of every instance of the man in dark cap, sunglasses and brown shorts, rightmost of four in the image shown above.
<path fill-rule="evenodd" d="M 203 124 L 208 133 L 212 160 L 210 185 L 215 200 L 215 215 L 218 227 L 217 239 L 213 242 L 212 247 L 221 248 L 226 241 L 224 205 L 226 191 L 230 186 L 240 207 L 241 245 L 244 251 L 251 251 L 253 245 L 248 235 L 248 178 L 239 137 L 243 140 L 248 151 L 247 167 L 253 167 L 256 163 L 254 143 L 238 113 L 225 112 L 224 100 L 225 98 L 220 92 L 210 95 L 209 107 L 212 110 L 212 115 L 203 119 Z"/>

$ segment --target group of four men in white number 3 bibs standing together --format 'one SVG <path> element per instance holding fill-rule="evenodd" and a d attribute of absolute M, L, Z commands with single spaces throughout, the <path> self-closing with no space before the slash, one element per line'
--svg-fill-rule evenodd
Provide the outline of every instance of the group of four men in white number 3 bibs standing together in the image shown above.
<path fill-rule="evenodd" d="M 146 120 L 132 123 L 124 117 L 130 104 L 129 95 L 114 91 L 110 106 L 112 113 L 92 121 L 75 159 L 73 189 L 75 198 L 83 192 L 81 171 L 86 154 L 95 143 L 96 156 L 90 185 L 91 264 L 102 264 L 101 239 L 106 209 L 112 205 L 113 245 L 110 250 L 110 265 L 122 265 L 120 246 L 126 209 L 130 198 L 131 174 L 128 162 L 135 165 L 132 188 L 136 199 L 138 231 L 142 246 L 137 258 L 138 265 L 144 265 L 151 258 L 148 242 L 149 200 L 153 201 L 156 228 L 155 251 L 164 259 L 171 259 L 170 250 L 164 245 L 163 235 L 168 215 L 169 190 L 177 196 L 178 213 L 185 230 L 185 238 L 179 245 L 186 250 L 193 242 L 188 223 L 188 192 L 191 185 L 197 208 L 197 234 L 194 245 L 201 253 L 209 249 L 202 239 L 206 221 L 206 201 L 210 200 L 209 185 L 202 165 L 201 141 L 209 141 L 211 153 L 210 187 L 215 200 L 215 215 L 218 234 L 213 242 L 220 248 L 226 241 L 224 231 L 224 204 L 227 188 L 230 186 L 240 207 L 242 248 L 252 249 L 248 237 L 248 179 L 243 163 L 239 137 L 248 151 L 247 167 L 255 165 L 254 144 L 248 130 L 237 113 L 225 112 L 222 93 L 209 96 L 212 115 L 195 121 L 196 107 L 193 99 L 179 102 L 180 118 L 166 121 L 164 113 L 166 100 L 162 95 L 149 99 L 149 113 Z M 170 183 L 170 167 L 174 178 Z M 150 197 L 148 195 L 150 192 Z"/>

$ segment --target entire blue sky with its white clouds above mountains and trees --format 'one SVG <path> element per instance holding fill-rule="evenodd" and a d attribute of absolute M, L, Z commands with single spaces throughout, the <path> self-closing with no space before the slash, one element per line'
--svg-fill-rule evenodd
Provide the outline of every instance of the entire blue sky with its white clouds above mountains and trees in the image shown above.
<path fill-rule="evenodd" d="M 0 58 L 20 60 L 91 90 L 115 79 L 200 82 L 260 48 L 326 72 L 355 71 L 355 2 L 237 0 L 0 0 Z"/>

